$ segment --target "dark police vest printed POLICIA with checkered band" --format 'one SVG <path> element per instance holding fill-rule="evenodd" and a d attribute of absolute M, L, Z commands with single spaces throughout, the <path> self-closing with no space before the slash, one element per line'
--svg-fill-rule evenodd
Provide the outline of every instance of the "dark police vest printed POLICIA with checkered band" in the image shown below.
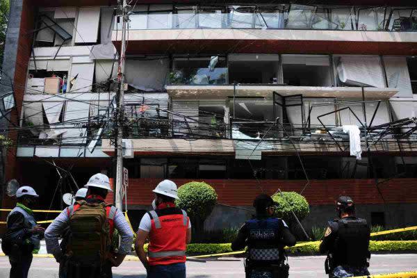
<path fill-rule="evenodd" d="M 248 259 L 268 263 L 284 258 L 284 246 L 279 243 L 283 226 L 278 218 L 248 220 Z"/>

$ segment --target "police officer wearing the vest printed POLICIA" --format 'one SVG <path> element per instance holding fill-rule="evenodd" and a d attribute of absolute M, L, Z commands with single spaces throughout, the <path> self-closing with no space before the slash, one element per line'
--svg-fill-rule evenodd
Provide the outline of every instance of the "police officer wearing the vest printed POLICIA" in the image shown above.
<path fill-rule="evenodd" d="M 284 220 L 272 217 L 277 205 L 269 195 L 256 197 L 256 216 L 240 228 L 238 237 L 231 243 L 232 250 L 248 247 L 249 255 L 245 260 L 247 278 L 288 277 L 289 265 L 285 262 L 284 247 L 295 245 L 295 237 Z"/>

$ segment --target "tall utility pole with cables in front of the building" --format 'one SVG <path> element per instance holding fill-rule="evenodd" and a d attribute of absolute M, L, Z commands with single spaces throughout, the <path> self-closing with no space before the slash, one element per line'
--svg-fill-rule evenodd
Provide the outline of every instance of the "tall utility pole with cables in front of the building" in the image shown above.
<path fill-rule="evenodd" d="M 116 183 L 115 183 L 115 196 L 116 196 L 116 208 L 122 211 L 122 196 L 120 192 L 123 183 L 123 126 L 124 126 L 124 68 L 126 65 L 126 24 L 128 20 L 127 14 L 127 2 L 126 0 L 119 0 L 120 10 L 122 10 L 122 46 L 120 47 L 120 66 L 117 72 L 117 79 L 119 81 L 119 92 L 117 95 L 117 132 L 116 132 L 116 144 L 115 153 L 117 154 L 116 162 Z"/>

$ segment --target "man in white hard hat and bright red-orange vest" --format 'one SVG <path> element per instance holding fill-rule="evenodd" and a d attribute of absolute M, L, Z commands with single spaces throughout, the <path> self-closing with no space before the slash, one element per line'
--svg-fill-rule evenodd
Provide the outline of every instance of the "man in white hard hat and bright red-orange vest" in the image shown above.
<path fill-rule="evenodd" d="M 177 185 L 165 179 L 153 190 L 153 211 L 140 220 L 136 254 L 147 270 L 148 278 L 185 278 L 186 247 L 191 241 L 191 223 L 187 213 L 175 206 Z M 143 245 L 149 238 L 148 257 Z"/>

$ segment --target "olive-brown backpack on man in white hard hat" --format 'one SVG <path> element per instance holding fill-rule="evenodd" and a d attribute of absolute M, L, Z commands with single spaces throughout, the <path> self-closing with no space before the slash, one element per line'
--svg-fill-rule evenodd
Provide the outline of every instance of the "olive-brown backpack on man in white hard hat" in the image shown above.
<path fill-rule="evenodd" d="M 92 264 L 106 261 L 110 251 L 110 225 L 106 215 L 106 204 L 76 202 L 69 208 L 70 240 L 67 256 L 71 261 Z"/>

